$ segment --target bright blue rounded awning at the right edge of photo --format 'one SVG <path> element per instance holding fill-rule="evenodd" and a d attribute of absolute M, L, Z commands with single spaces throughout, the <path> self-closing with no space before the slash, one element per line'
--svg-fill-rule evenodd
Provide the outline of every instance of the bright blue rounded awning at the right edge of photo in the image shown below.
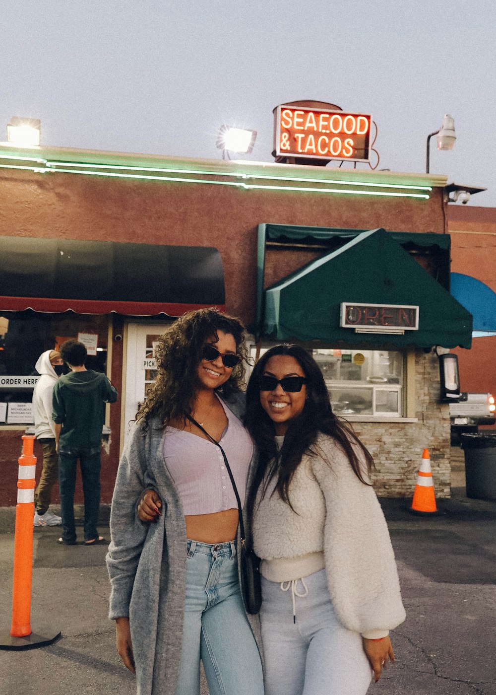
<path fill-rule="evenodd" d="M 451 274 L 451 292 L 474 317 L 474 338 L 496 335 L 496 292 L 471 275 Z"/>

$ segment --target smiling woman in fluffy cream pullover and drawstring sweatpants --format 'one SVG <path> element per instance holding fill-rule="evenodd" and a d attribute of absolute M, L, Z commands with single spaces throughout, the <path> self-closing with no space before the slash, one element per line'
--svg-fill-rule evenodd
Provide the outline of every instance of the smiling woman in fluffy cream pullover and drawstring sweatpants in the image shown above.
<path fill-rule="evenodd" d="M 261 557 L 265 695 L 365 695 L 405 612 L 372 457 L 334 416 L 299 345 L 277 345 L 247 389 L 258 449 L 249 513 Z"/>

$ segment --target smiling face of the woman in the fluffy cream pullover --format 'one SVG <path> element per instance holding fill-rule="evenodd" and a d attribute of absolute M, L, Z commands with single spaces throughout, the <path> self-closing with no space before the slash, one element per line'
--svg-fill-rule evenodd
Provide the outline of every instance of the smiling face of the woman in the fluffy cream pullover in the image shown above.
<path fill-rule="evenodd" d="M 263 374 L 278 380 L 284 377 L 305 377 L 299 362 L 288 354 L 275 354 L 267 360 Z M 303 412 L 305 401 L 305 384 L 301 386 L 301 391 L 295 393 L 284 391 L 281 384 L 277 384 L 273 391 L 260 392 L 261 406 L 274 423 L 277 436 L 286 434 L 290 420 Z"/>

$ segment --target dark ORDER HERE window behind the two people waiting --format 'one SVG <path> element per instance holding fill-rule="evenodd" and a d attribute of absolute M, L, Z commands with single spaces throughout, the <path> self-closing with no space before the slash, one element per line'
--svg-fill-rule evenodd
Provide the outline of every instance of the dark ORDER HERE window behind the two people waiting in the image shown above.
<path fill-rule="evenodd" d="M 33 424 L 35 364 L 69 338 L 85 343 L 88 369 L 106 372 L 108 316 L 0 311 L 0 427 Z"/>

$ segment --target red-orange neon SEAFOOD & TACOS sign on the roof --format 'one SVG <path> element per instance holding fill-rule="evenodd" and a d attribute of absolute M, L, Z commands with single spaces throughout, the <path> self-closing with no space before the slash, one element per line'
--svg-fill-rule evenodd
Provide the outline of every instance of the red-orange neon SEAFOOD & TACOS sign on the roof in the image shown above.
<path fill-rule="evenodd" d="M 369 160 L 370 113 L 282 105 L 274 116 L 276 156 Z"/>

